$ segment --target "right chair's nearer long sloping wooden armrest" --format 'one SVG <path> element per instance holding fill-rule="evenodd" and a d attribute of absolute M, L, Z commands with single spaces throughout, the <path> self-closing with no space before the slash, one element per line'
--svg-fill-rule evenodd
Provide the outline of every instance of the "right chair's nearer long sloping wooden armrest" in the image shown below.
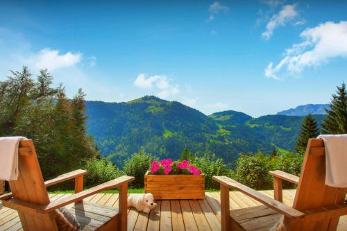
<path fill-rule="evenodd" d="M 283 203 L 280 203 L 277 200 L 273 200 L 273 198 L 269 198 L 268 196 L 265 196 L 259 191 L 255 191 L 254 189 L 251 189 L 250 187 L 242 185 L 239 182 L 232 180 L 226 176 L 214 176 L 213 179 L 225 187 L 228 187 L 230 189 L 237 189 L 238 191 L 241 191 L 243 194 L 246 194 L 247 196 L 254 198 L 260 203 L 263 203 L 267 207 L 270 207 L 271 209 L 276 210 L 277 212 L 280 212 L 280 214 L 283 214 L 290 219 L 300 219 L 303 216 L 305 216 L 303 212 L 300 212 L 292 207 L 289 207 Z"/>

